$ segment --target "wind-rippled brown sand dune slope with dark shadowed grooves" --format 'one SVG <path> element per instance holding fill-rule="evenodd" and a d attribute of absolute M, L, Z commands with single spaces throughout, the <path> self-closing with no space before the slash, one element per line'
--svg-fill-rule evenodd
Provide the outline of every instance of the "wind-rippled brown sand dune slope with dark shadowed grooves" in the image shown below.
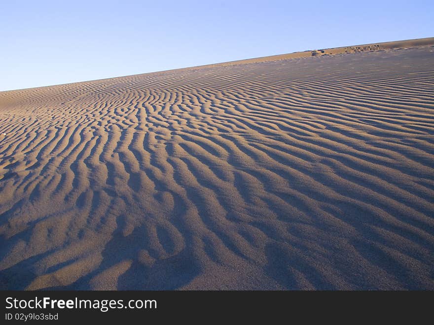
<path fill-rule="evenodd" d="M 391 48 L 1 92 L 2 288 L 434 289 L 434 47 Z"/>

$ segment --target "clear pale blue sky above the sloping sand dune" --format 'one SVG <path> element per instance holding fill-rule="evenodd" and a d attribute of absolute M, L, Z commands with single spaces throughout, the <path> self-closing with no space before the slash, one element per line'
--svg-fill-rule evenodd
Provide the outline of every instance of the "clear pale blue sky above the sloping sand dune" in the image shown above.
<path fill-rule="evenodd" d="M 0 3 L 0 91 L 434 36 L 433 1 Z"/>

